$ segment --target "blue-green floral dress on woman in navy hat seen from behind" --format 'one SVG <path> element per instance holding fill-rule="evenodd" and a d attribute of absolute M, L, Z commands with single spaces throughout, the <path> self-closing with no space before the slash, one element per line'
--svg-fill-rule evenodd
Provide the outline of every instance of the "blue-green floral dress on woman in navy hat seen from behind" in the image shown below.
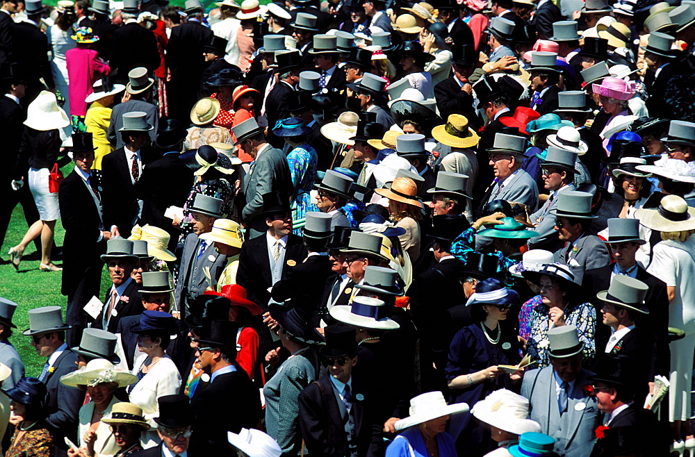
<path fill-rule="evenodd" d="M 287 163 L 290 166 L 292 186 L 295 194 L 292 196 L 290 207 L 293 211 L 293 219 L 304 219 L 309 211 L 318 211 L 318 207 L 311 201 L 311 189 L 316 181 L 318 170 L 318 156 L 309 144 L 298 144 L 287 155 Z M 302 235 L 302 228 L 295 228 L 295 235 Z"/>

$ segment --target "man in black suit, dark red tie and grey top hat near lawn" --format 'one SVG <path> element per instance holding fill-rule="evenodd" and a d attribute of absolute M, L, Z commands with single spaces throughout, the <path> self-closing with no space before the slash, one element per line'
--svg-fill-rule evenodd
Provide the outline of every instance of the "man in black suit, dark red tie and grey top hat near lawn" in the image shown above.
<path fill-rule="evenodd" d="M 154 126 L 147 122 L 147 113 L 133 111 L 122 116 L 119 134 L 124 145 L 101 160 L 102 208 L 104 227 L 122 237 L 129 237 L 140 220 L 142 200 L 136 197 L 135 186 L 142 176 L 145 164 L 151 161 L 149 132 Z"/>

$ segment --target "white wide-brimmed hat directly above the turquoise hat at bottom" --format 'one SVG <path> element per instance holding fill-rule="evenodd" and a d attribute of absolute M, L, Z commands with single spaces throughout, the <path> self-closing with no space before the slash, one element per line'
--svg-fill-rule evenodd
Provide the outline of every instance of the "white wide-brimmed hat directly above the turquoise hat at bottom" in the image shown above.
<path fill-rule="evenodd" d="M 471 414 L 500 430 L 521 435 L 528 431 L 539 433 L 541 426 L 528 418 L 529 401 L 511 390 L 500 389 L 478 401 Z"/>

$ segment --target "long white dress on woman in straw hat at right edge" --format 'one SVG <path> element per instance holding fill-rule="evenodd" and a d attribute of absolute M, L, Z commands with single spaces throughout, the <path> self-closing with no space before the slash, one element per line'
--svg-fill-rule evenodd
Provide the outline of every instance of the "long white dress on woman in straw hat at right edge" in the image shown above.
<path fill-rule="evenodd" d="M 671 342 L 669 420 L 687 420 L 695 351 L 695 236 L 685 242 L 658 242 L 647 271 L 676 288 L 669 305 L 669 326 L 685 331 L 685 338 Z"/>

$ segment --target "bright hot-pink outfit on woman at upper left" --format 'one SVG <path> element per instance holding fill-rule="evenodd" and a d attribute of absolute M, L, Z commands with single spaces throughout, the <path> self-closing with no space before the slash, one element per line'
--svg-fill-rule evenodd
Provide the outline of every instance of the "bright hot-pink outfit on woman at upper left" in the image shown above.
<path fill-rule="evenodd" d="M 85 98 L 92 92 L 95 81 L 111 72 L 111 68 L 94 49 L 78 44 L 65 53 L 67 76 L 70 81 L 70 115 L 87 115 Z"/>

